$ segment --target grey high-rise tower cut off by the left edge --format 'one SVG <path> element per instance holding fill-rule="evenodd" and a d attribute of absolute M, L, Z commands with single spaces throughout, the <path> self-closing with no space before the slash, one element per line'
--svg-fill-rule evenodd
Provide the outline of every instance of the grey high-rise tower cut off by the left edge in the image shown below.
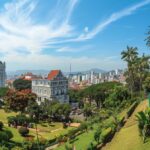
<path fill-rule="evenodd" d="M 5 87 L 6 81 L 6 65 L 0 61 L 0 87 Z"/>

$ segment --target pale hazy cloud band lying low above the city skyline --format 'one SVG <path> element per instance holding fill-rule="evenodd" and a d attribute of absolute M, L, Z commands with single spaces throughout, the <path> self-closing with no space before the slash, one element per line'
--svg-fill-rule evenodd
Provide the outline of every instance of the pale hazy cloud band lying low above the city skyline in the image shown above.
<path fill-rule="evenodd" d="M 13 61 L 12 61 L 13 60 Z M 73 56 L 53 56 L 44 54 L 8 54 L 3 57 L 3 61 L 6 61 L 9 66 L 7 70 L 38 70 L 38 69 L 61 69 L 63 71 L 69 71 L 70 63 L 72 64 L 73 71 L 88 70 L 89 68 L 102 68 L 102 69 L 115 69 L 124 67 L 121 60 L 92 57 L 73 57 Z M 17 67 L 16 67 L 17 66 Z"/>

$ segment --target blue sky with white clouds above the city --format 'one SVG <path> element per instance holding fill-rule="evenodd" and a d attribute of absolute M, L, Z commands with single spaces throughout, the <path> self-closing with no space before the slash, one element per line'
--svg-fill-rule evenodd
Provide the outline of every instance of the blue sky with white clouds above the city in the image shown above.
<path fill-rule="evenodd" d="M 150 0 L 0 0 L 7 70 L 125 68 L 121 51 L 150 54 Z"/>

